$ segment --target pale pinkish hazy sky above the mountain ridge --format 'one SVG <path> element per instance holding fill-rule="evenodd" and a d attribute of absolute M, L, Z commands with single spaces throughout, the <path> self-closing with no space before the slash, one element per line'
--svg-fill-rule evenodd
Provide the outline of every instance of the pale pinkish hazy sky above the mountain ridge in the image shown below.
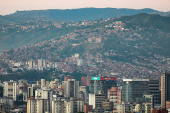
<path fill-rule="evenodd" d="M 170 0 L 0 0 L 0 15 L 19 10 L 73 9 L 84 7 L 152 8 L 170 11 Z"/>

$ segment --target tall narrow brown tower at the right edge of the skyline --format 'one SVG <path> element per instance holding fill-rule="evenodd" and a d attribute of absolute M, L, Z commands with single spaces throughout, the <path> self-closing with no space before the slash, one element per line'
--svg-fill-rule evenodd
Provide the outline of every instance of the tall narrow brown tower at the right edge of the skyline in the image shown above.
<path fill-rule="evenodd" d="M 166 101 L 170 101 L 170 73 L 161 76 L 161 108 L 166 109 Z"/>

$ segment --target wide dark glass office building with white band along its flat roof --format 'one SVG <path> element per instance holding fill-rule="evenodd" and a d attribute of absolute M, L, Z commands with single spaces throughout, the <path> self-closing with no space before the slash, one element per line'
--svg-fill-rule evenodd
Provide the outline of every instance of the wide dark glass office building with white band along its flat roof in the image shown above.
<path fill-rule="evenodd" d="M 149 94 L 149 79 L 123 79 L 122 101 L 136 102 L 143 98 L 144 94 Z"/>

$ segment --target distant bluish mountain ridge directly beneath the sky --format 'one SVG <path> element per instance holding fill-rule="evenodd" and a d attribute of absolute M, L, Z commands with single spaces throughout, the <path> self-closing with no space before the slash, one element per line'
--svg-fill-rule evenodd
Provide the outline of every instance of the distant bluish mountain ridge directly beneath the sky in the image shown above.
<path fill-rule="evenodd" d="M 49 10 L 31 10 L 16 11 L 14 14 L 0 16 L 0 24 L 19 23 L 28 20 L 53 20 L 62 21 L 81 21 L 97 20 L 100 18 L 113 18 L 122 15 L 135 15 L 138 13 L 156 13 L 153 9 L 116 9 L 116 8 L 81 8 L 81 9 L 49 9 Z"/>

